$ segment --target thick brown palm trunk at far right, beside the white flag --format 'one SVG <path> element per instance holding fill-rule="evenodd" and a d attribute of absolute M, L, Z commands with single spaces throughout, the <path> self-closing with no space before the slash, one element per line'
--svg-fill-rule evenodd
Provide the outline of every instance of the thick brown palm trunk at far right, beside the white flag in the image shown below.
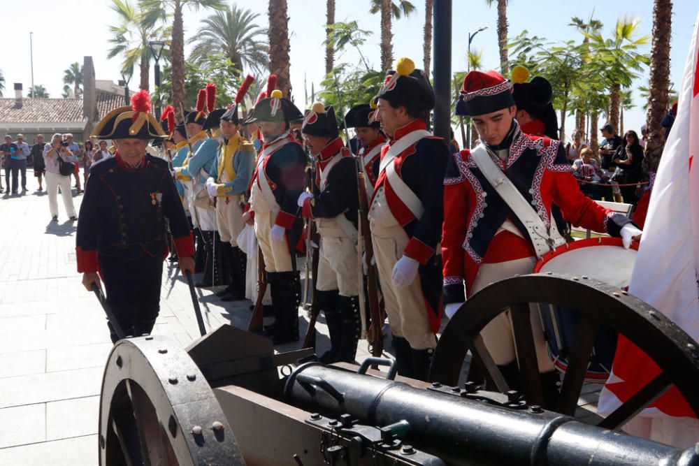
<path fill-rule="evenodd" d="M 646 128 L 649 134 L 663 137 L 660 121 L 670 104 L 670 32 L 672 26 L 672 1 L 654 0 L 653 41 L 651 43 L 651 78 L 649 105 L 646 112 Z"/>

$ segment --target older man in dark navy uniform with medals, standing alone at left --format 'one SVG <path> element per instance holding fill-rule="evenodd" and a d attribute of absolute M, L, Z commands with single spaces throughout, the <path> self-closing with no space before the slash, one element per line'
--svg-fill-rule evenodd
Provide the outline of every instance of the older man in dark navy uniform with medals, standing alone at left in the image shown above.
<path fill-rule="evenodd" d="M 92 166 L 80 206 L 76 252 L 85 288 L 100 286 L 101 277 L 107 303 L 124 332 L 143 335 L 151 332 L 160 309 L 166 219 L 182 272 L 194 273 L 194 246 L 167 161 L 145 152 L 149 140 L 164 136 L 150 114 L 150 97 L 140 91 L 131 103 L 109 112 L 92 133 L 113 140 L 117 152 Z"/>

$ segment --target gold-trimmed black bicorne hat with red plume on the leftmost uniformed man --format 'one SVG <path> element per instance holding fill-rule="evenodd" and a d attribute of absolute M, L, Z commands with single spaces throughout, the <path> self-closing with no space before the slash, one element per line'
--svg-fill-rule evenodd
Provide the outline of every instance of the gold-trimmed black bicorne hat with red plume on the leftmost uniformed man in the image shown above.
<path fill-rule="evenodd" d="M 92 130 L 90 137 L 101 139 L 153 139 L 166 137 L 160 122 L 150 112 L 150 95 L 144 89 L 131 97 L 131 106 L 115 108 Z"/>

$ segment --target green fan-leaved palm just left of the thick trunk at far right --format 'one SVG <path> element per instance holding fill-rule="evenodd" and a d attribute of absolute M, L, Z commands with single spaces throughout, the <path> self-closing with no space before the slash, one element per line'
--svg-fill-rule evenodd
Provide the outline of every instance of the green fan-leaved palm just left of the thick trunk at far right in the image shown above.
<path fill-rule="evenodd" d="M 596 52 L 591 63 L 598 67 L 598 72 L 610 89 L 609 123 L 614 131 L 619 130 L 621 86 L 630 86 L 631 81 L 637 77 L 634 71 L 642 70 L 643 65 L 649 63 L 645 54 L 637 52 L 640 45 L 648 43 L 648 36 L 633 38 L 639 25 L 639 19 L 623 17 L 617 20 L 613 38 L 605 40 L 601 34 L 590 34 Z"/>

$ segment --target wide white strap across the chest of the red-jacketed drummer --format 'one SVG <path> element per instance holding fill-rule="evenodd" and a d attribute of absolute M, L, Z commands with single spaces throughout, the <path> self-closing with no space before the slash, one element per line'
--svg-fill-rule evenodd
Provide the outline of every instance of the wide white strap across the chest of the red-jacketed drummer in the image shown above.
<path fill-rule="evenodd" d="M 519 221 L 524 224 L 529 233 L 529 238 L 533 242 L 534 251 L 539 258 L 552 249 L 565 244 L 565 239 L 559 233 L 559 229 L 556 228 L 555 222 L 552 221 L 551 227 L 547 230 L 539 214 L 491 159 L 486 147 L 482 144 L 477 145 L 475 149 L 471 150 L 471 158 L 491 186 L 503 198 L 503 201 L 510 206 L 510 209 L 512 209 Z"/>

